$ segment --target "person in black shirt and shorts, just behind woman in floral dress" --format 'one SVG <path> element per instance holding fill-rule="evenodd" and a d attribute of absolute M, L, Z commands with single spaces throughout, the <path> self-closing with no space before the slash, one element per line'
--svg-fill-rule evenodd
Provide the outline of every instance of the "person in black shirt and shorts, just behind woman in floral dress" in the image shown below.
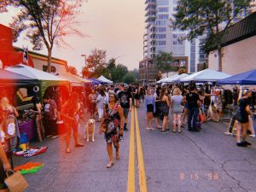
<path fill-rule="evenodd" d="M 128 131 L 127 123 L 128 123 L 128 113 L 131 111 L 131 92 L 128 90 L 128 84 L 123 84 L 124 90 L 119 92 L 119 102 L 124 112 L 124 131 Z"/>

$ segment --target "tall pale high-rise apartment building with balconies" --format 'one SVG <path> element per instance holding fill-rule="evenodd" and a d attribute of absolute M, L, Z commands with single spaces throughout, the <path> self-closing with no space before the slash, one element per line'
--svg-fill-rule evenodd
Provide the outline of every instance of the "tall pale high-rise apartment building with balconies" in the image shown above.
<path fill-rule="evenodd" d="M 146 0 L 145 1 L 145 34 L 143 39 L 143 57 L 140 68 L 150 66 L 148 77 L 158 73 L 154 66 L 154 55 L 159 51 L 172 52 L 176 62 L 187 67 L 188 73 L 197 71 L 197 64 L 206 62 L 207 58 L 200 51 L 201 39 L 192 42 L 181 40 L 186 34 L 179 30 L 172 30 L 170 18 L 177 12 L 177 0 Z M 186 63 L 184 64 L 184 61 Z M 143 68 L 143 72 L 147 72 Z M 145 74 L 143 74 L 145 77 Z"/>

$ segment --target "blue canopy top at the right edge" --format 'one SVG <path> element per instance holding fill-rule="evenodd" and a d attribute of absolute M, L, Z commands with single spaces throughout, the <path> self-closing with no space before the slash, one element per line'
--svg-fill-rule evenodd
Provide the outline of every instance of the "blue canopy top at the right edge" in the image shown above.
<path fill-rule="evenodd" d="M 256 84 L 256 69 L 245 73 L 238 73 L 230 78 L 219 80 L 218 84 Z"/>

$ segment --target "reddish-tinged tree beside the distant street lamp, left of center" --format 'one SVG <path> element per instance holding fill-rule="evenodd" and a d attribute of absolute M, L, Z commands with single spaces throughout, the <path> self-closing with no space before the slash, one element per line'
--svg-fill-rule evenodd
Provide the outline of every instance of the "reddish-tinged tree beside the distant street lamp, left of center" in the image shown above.
<path fill-rule="evenodd" d="M 86 66 L 83 68 L 90 72 L 89 77 L 98 78 L 104 73 L 107 67 L 106 57 L 107 50 L 92 49 L 90 51 L 90 55 L 86 59 Z"/>

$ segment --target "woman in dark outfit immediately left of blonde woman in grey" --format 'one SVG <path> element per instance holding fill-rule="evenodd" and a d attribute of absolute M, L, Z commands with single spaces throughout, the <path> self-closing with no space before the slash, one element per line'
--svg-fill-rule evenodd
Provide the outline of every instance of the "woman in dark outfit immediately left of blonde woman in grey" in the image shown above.
<path fill-rule="evenodd" d="M 166 96 L 168 93 L 168 90 L 166 88 L 162 88 L 161 95 L 160 95 L 160 101 L 161 101 L 161 115 L 163 116 L 163 124 L 162 124 L 162 133 L 169 132 L 168 127 L 168 115 L 169 115 L 169 108 L 170 108 L 170 102 L 168 96 Z"/>

